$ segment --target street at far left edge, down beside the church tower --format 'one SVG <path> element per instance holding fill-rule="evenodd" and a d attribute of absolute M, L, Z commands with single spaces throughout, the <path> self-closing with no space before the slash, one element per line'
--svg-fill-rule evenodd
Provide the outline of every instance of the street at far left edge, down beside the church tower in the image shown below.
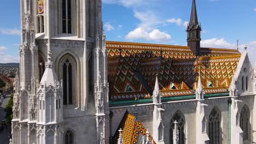
<path fill-rule="evenodd" d="M 8 104 L 9 99 L 10 99 L 10 94 L 7 95 L 7 97 L 5 99 L 3 99 L 3 104 L 0 105 L 0 122 L 2 122 L 2 120 L 4 119 L 4 116 L 5 116 L 4 107 L 5 107 L 5 105 Z M 1 140 L 0 143 L 1 144 L 9 143 L 9 139 L 8 139 L 9 129 L 4 128 L 3 131 L 0 131 L 0 140 Z"/>

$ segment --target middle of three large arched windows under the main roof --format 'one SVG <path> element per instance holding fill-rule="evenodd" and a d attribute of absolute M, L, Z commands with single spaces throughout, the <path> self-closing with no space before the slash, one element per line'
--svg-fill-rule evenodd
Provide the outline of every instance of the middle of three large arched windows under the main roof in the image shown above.
<path fill-rule="evenodd" d="M 220 143 L 220 112 L 214 107 L 210 113 L 208 122 L 208 136 L 210 137 L 210 144 Z"/>

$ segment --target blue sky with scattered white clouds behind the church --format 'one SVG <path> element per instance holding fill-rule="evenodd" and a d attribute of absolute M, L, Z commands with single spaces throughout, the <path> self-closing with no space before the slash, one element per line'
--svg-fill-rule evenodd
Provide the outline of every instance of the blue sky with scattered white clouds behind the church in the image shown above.
<path fill-rule="evenodd" d="M 186 45 L 191 0 L 102 0 L 107 40 Z M 256 0 L 196 0 L 201 45 L 256 52 Z M 19 61 L 20 1 L 0 5 L 0 63 Z"/>

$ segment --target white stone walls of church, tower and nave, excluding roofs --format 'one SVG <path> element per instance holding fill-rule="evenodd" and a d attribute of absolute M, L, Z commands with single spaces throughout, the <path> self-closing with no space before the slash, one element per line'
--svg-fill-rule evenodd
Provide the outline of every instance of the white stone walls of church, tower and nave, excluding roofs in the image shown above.
<path fill-rule="evenodd" d="M 171 119 L 176 112 L 184 118 L 184 143 L 207 143 L 213 109 L 220 113 L 219 143 L 256 142 L 256 66 L 253 71 L 247 51 L 240 58 L 229 96 L 204 98 L 203 88 L 198 85 L 196 99 L 162 103 L 156 80 L 152 104 L 109 107 L 101 0 L 71 1 L 75 18 L 66 27 L 71 27 L 70 33 L 63 33 L 62 29 L 60 11 L 64 0 L 44 0 L 41 14 L 36 2 L 21 0 L 21 63 L 15 80 L 12 143 L 110 143 L 109 137 L 118 130 L 126 111 L 152 131 L 156 143 L 172 141 Z M 65 2 L 69 4 L 68 0 Z M 246 141 L 239 126 L 244 106 L 249 110 Z M 119 143 L 123 141 L 120 139 Z"/>

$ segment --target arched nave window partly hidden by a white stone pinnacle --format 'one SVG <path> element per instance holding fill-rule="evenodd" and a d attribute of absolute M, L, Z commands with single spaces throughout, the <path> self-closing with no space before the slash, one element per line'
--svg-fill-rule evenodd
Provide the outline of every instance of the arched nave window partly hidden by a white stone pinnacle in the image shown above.
<path fill-rule="evenodd" d="M 185 133 L 184 133 L 184 125 L 185 125 L 185 119 L 181 112 L 177 111 L 174 113 L 171 121 L 171 128 L 170 128 L 170 143 L 173 143 L 173 129 L 174 129 L 174 122 L 177 121 L 177 128 L 179 131 L 179 144 L 185 143 Z"/>

